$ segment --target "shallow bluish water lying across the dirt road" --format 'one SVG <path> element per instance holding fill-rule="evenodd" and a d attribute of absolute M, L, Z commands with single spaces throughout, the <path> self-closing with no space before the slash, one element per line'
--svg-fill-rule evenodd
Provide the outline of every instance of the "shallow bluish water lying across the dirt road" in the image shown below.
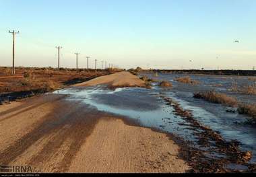
<path fill-rule="evenodd" d="M 172 114 L 173 108 L 166 106 L 157 92 L 143 88 L 119 88 L 115 92 L 102 87 L 87 87 L 86 90 L 74 88 L 59 90 L 54 94 L 68 94 L 68 100 L 80 100 L 100 111 L 126 116 L 137 120 L 143 127 L 160 129 L 191 140 L 192 133 L 187 130 L 186 121 Z"/>

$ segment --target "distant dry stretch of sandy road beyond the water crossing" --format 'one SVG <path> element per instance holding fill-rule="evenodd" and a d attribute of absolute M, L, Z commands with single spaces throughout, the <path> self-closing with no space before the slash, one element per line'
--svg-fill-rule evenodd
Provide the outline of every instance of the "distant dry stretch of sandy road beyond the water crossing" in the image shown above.
<path fill-rule="evenodd" d="M 97 77 L 75 86 L 92 86 L 106 84 L 110 87 L 145 87 L 145 82 L 129 72 L 119 72 L 112 75 Z"/>

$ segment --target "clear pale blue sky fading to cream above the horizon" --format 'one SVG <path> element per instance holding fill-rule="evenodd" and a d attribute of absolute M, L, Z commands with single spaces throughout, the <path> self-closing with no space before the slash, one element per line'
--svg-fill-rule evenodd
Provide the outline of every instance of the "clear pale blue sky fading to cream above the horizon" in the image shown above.
<path fill-rule="evenodd" d="M 62 67 L 80 52 L 81 67 L 89 55 L 125 68 L 251 69 L 255 9 L 255 0 L 0 0 L 0 65 L 11 66 L 8 30 L 20 30 L 18 66 L 57 67 L 61 45 Z"/>

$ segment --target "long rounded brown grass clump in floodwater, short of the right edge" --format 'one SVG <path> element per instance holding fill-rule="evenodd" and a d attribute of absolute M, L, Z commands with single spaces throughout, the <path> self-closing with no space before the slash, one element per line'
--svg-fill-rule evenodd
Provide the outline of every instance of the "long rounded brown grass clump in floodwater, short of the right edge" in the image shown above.
<path fill-rule="evenodd" d="M 227 96 L 226 94 L 220 94 L 216 92 L 205 92 L 194 94 L 194 98 L 201 98 L 208 102 L 213 102 L 216 104 L 224 104 L 226 106 L 235 107 L 238 105 L 236 98 Z"/>

